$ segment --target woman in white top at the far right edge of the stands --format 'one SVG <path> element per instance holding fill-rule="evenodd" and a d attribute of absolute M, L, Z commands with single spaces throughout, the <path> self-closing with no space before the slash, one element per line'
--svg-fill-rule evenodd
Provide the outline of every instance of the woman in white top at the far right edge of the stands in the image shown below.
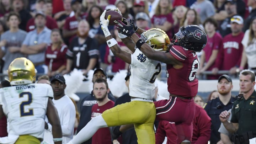
<path fill-rule="evenodd" d="M 251 24 L 249 30 L 246 30 L 244 38 L 242 39 L 244 50 L 242 53 L 241 64 L 236 71 L 244 69 L 248 64 L 251 70 L 256 70 L 256 17 L 251 18 Z"/>

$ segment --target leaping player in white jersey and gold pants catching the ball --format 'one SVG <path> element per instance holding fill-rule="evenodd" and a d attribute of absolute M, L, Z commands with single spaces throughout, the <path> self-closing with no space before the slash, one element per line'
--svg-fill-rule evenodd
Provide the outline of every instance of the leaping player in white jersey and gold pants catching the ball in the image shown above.
<path fill-rule="evenodd" d="M 106 10 L 100 17 L 101 28 L 105 34 L 108 47 L 113 54 L 126 63 L 130 64 L 130 84 L 129 95 L 131 102 L 117 105 L 102 113 L 101 116 L 92 118 L 89 123 L 71 140 L 68 144 L 80 144 L 92 137 L 92 135 L 102 127 L 121 126 L 125 124 L 134 124 L 135 132 L 138 138 L 138 144 L 155 144 L 154 121 L 156 109 L 152 101 L 155 95 L 154 82 L 156 76 L 161 71 L 160 62 L 151 60 L 139 50 L 140 44 L 133 43 L 129 47 L 133 54 L 123 51 L 118 46 L 116 40 L 111 36 L 107 26 L 109 18 L 106 20 Z M 157 33 L 156 35 L 152 35 Z M 153 28 L 142 34 L 148 47 L 152 46 L 155 50 L 166 51 L 169 48 L 170 39 L 167 34 Z"/>

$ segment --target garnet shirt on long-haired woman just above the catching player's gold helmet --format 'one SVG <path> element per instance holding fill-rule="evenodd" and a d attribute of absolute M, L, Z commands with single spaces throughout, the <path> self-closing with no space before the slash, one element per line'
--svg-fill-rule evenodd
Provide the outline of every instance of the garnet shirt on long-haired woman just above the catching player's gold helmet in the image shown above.
<path fill-rule="evenodd" d="M 172 14 L 169 13 L 169 14 L 166 14 L 166 15 L 153 15 L 153 17 L 151 18 L 151 23 L 153 25 L 164 25 L 164 23 L 168 21 L 170 23 L 174 23 L 174 20 L 172 18 Z M 166 34 L 172 38 L 173 37 L 173 34 L 172 34 L 172 28 L 170 28 L 170 30 L 166 31 Z"/>

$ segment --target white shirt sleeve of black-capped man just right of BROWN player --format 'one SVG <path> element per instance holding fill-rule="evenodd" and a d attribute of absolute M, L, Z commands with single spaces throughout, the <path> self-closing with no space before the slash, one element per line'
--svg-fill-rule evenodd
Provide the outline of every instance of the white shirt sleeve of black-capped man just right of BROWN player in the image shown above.
<path fill-rule="evenodd" d="M 62 120 L 62 135 L 68 136 L 74 131 L 75 124 L 75 106 L 73 103 L 70 103 L 63 109 L 63 120 Z"/>

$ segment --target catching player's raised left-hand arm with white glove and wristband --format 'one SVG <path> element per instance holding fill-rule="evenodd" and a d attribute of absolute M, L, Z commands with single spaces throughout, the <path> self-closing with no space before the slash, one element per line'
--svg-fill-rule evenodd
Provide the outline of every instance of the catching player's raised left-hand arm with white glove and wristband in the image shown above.
<path fill-rule="evenodd" d="M 110 23 L 111 15 L 108 15 L 107 19 L 105 19 L 105 14 L 106 14 L 106 10 L 102 12 L 100 16 L 100 24 L 101 24 L 101 29 L 106 37 L 107 45 L 115 56 L 121 58 L 124 62 L 130 64 L 131 54 L 124 50 L 121 50 L 120 47 L 118 46 L 116 39 L 114 39 L 111 36 L 111 33 L 108 30 L 108 24 Z"/>

